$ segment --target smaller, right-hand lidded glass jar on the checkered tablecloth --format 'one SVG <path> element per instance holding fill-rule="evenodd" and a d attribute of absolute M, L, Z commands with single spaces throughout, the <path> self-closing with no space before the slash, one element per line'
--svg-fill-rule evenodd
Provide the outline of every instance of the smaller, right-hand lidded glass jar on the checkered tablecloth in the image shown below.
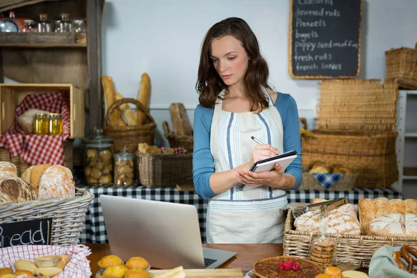
<path fill-rule="evenodd" d="M 122 147 L 119 153 L 114 155 L 115 159 L 115 186 L 131 186 L 135 172 L 134 154 L 127 152 L 126 147 Z"/>

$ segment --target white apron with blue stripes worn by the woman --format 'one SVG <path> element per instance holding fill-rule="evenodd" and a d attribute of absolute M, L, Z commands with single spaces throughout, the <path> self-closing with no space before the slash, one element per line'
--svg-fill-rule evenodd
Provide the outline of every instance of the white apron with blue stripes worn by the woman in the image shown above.
<path fill-rule="evenodd" d="M 215 105 L 210 136 L 215 172 L 249 161 L 256 145 L 251 136 L 284 152 L 281 116 L 268 91 L 264 93 L 269 107 L 259 114 L 222 111 L 221 99 Z M 269 186 L 245 191 L 235 186 L 216 195 L 208 201 L 207 243 L 282 243 L 280 209 L 287 204 L 286 192 Z"/>

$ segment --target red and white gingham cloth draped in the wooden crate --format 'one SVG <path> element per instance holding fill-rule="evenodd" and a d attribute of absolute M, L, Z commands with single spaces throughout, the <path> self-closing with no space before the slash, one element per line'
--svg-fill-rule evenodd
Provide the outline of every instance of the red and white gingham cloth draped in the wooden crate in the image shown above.
<path fill-rule="evenodd" d="M 25 134 L 15 120 L 13 126 L 10 126 L 5 134 L 0 135 L 0 148 L 8 149 L 12 158 L 21 156 L 31 165 L 47 163 L 65 165 L 63 142 L 71 133 L 70 96 L 65 92 L 27 95 L 16 108 L 15 119 L 33 108 L 60 113 L 63 117 L 63 134 L 54 136 Z"/>

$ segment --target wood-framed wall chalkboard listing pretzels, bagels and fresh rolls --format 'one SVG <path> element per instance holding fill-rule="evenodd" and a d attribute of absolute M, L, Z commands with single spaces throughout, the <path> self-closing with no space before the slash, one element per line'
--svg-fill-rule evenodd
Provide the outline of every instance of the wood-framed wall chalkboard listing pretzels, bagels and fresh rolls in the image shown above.
<path fill-rule="evenodd" d="M 288 72 L 293 79 L 359 76 L 361 0 L 290 0 Z"/>

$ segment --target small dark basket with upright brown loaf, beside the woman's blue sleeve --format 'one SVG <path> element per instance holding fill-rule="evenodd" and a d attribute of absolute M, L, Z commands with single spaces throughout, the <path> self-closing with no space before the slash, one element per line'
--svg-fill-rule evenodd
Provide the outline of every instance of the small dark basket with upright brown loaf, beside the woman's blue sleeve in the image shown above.
<path fill-rule="evenodd" d="M 183 147 L 188 152 L 193 152 L 193 128 L 186 113 L 186 108 L 181 103 L 170 104 L 170 116 L 172 122 L 172 131 L 169 124 L 164 121 L 163 132 L 165 138 L 170 142 L 170 147 Z"/>

